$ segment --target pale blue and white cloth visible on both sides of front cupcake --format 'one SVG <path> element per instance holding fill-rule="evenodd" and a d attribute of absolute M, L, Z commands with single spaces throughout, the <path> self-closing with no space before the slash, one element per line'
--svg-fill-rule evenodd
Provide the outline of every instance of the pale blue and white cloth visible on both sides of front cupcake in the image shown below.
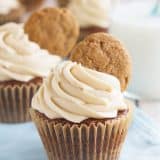
<path fill-rule="evenodd" d="M 0 160 L 47 160 L 32 123 L 0 125 Z M 160 126 L 135 109 L 120 160 L 160 160 Z"/>

